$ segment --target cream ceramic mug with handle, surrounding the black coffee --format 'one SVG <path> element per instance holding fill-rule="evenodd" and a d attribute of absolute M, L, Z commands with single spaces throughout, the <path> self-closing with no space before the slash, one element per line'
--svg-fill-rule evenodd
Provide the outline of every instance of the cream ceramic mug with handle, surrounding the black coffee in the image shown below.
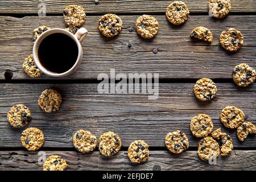
<path fill-rule="evenodd" d="M 43 67 L 43 65 L 40 63 L 39 58 L 38 58 L 38 48 L 40 46 L 40 43 L 42 43 L 42 41 L 47 36 L 49 36 L 51 34 L 56 34 L 56 33 L 61 33 L 61 34 L 68 35 L 70 38 L 72 38 L 76 42 L 77 49 L 79 50 L 76 63 L 73 65 L 73 67 L 71 69 L 69 69 L 68 71 L 66 71 L 64 73 L 53 73 L 51 71 L 48 71 L 46 68 Z M 52 77 L 64 77 L 64 76 L 71 75 L 73 72 L 76 71 L 76 69 L 81 64 L 81 61 L 82 61 L 82 46 L 81 46 L 80 42 L 85 38 L 85 36 L 87 34 L 88 34 L 88 31 L 85 28 L 80 28 L 76 32 L 75 35 L 73 35 L 71 32 L 69 32 L 69 31 L 67 31 L 63 28 L 51 28 L 51 29 L 43 32 L 43 34 L 41 34 L 38 37 L 38 39 L 36 39 L 36 42 L 35 42 L 34 47 L 33 47 L 33 57 L 34 57 L 36 66 L 40 69 L 40 71 L 42 71 L 46 75 L 49 75 L 49 76 L 52 76 Z"/>

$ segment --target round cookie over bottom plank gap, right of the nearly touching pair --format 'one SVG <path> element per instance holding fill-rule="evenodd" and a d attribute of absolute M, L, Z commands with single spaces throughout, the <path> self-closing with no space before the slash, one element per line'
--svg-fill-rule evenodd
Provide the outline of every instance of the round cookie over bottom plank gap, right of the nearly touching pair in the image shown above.
<path fill-rule="evenodd" d="M 149 158 L 148 144 L 143 140 L 135 140 L 128 148 L 128 157 L 132 163 L 145 162 Z"/>

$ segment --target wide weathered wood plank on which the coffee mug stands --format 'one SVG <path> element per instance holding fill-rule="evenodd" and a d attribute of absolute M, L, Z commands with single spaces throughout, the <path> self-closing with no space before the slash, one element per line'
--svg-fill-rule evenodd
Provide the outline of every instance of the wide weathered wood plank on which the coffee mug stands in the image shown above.
<path fill-rule="evenodd" d="M 97 78 L 99 73 L 115 68 L 117 73 L 159 73 L 160 78 L 231 78 L 233 67 L 242 62 L 256 68 L 256 16 L 228 16 L 216 20 L 208 16 L 191 16 L 182 27 L 173 27 L 164 15 L 156 16 L 160 22 L 159 34 L 152 40 L 143 40 L 137 32 L 129 32 L 138 16 L 121 16 L 123 31 L 116 38 L 106 39 L 97 30 L 100 16 L 88 16 L 85 27 L 88 38 L 82 42 L 84 58 L 81 67 L 68 78 Z M 13 79 L 28 78 L 22 70 L 25 57 L 32 52 L 31 32 L 42 24 L 65 27 L 61 16 L 25 18 L 0 17 L 0 78 L 5 71 L 14 72 Z M 241 30 L 245 45 L 237 53 L 228 53 L 219 46 L 218 37 L 228 27 Z M 197 26 L 213 32 L 211 45 L 190 38 Z M 127 43 L 131 43 L 129 48 Z M 158 53 L 152 49 L 158 48 Z M 42 78 L 49 78 L 43 76 Z"/>

